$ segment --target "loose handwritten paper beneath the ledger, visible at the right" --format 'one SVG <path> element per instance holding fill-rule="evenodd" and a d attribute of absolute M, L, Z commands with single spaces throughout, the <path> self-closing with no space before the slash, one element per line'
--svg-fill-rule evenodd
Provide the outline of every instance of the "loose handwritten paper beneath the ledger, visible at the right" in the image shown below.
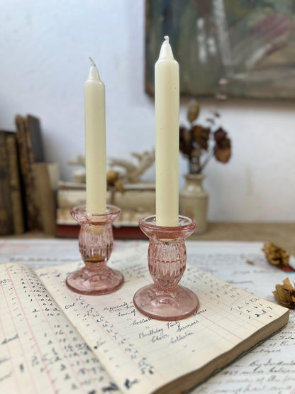
<path fill-rule="evenodd" d="M 261 242 L 187 242 L 187 261 L 247 292 L 277 302 L 272 291 L 295 273 L 267 263 Z M 290 266 L 295 267 L 291 256 Z M 185 275 L 185 274 L 184 274 Z M 208 381 L 194 394 L 295 393 L 295 310 L 281 332 L 252 349 Z"/>

